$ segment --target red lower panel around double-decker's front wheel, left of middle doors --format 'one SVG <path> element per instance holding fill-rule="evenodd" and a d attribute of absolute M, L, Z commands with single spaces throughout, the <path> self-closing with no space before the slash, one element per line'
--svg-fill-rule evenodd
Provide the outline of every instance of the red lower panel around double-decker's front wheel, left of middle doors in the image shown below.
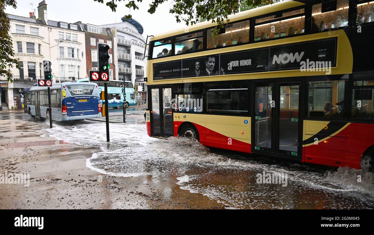
<path fill-rule="evenodd" d="M 183 122 L 174 121 L 174 136 L 178 136 L 178 128 Z M 238 152 L 251 153 L 251 144 L 235 140 L 233 138 L 222 135 L 218 132 L 212 131 L 205 126 L 193 123 L 199 132 L 200 143 L 205 146 L 215 147 L 220 149 L 233 150 Z"/>

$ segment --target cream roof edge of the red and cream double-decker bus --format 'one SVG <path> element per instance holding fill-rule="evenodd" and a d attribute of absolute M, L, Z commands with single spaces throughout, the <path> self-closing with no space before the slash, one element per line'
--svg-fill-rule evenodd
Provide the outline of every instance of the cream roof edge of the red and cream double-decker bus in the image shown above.
<path fill-rule="evenodd" d="M 257 7 L 257 8 L 250 9 L 250 10 L 246 10 L 246 11 L 243 11 L 243 12 L 239 12 L 239 13 L 236 13 L 234 15 L 230 15 L 229 20 L 230 20 L 230 22 L 239 21 L 239 20 L 248 19 L 248 18 L 251 18 L 251 17 L 254 17 L 254 16 L 259 16 L 259 15 L 264 15 L 264 14 L 267 14 L 267 13 L 277 12 L 279 10 L 284 10 L 284 9 L 288 9 L 288 8 L 292 8 L 292 7 L 302 6 L 304 4 L 305 3 L 302 3 L 301 1 L 285 0 L 285 1 L 278 2 L 278 3 L 274 3 L 274 4 L 261 6 L 261 7 Z M 193 26 L 188 26 L 188 32 L 193 32 L 193 31 L 196 31 L 196 30 L 202 30 L 202 29 L 205 29 L 205 28 L 210 28 L 210 27 L 214 27 L 216 25 L 217 25 L 217 23 L 212 23 L 210 21 L 204 21 L 204 22 L 197 23 Z M 186 27 L 179 28 L 179 29 L 172 30 L 172 31 L 168 31 L 166 33 L 155 34 L 155 36 L 152 37 L 150 40 L 154 41 L 154 40 L 164 39 L 166 37 L 171 37 L 171 36 L 184 34 L 184 33 L 187 33 Z"/>

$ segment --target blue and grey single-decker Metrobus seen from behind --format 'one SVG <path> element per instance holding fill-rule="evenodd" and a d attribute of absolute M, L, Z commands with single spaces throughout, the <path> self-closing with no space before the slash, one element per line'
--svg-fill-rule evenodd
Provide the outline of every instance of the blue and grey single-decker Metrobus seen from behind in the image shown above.
<path fill-rule="evenodd" d="M 92 82 L 53 83 L 50 88 L 52 120 L 67 121 L 101 117 L 100 91 Z M 24 88 L 25 113 L 49 119 L 48 89 L 45 86 Z"/>

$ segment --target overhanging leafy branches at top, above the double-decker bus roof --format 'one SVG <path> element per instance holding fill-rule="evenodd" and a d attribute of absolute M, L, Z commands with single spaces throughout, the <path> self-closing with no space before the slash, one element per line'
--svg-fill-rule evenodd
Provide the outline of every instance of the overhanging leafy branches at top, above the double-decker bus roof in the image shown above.
<path fill-rule="evenodd" d="M 104 3 L 104 0 L 94 0 L 99 3 Z M 142 0 L 110 0 L 106 3 L 107 6 L 116 11 L 117 2 L 127 2 L 126 7 L 133 10 L 138 10 L 138 4 Z M 153 14 L 159 4 L 167 0 L 153 0 L 149 4 L 148 12 Z M 242 0 L 240 2 L 240 10 L 248 10 L 257 6 L 271 4 L 280 0 Z M 219 28 L 224 27 L 229 22 L 227 16 L 239 12 L 239 0 L 173 0 L 169 13 L 175 14 L 176 21 L 184 22 L 187 26 L 194 25 L 201 21 L 211 21 L 217 23 L 217 27 L 212 31 L 213 36 L 217 36 Z M 125 16 L 130 19 L 130 14 Z"/>

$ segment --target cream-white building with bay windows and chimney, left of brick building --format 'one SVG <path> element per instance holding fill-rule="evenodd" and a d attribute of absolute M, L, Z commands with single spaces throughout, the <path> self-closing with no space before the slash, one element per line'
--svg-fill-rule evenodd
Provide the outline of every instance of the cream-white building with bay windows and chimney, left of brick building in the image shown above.
<path fill-rule="evenodd" d="M 0 77 L 0 110 L 22 109 L 23 88 L 43 78 L 43 60 L 52 62 L 53 82 L 86 77 L 85 33 L 77 25 L 47 19 L 47 4 L 41 1 L 38 18 L 9 15 L 9 34 L 21 70 L 11 68 L 13 83 Z"/>

